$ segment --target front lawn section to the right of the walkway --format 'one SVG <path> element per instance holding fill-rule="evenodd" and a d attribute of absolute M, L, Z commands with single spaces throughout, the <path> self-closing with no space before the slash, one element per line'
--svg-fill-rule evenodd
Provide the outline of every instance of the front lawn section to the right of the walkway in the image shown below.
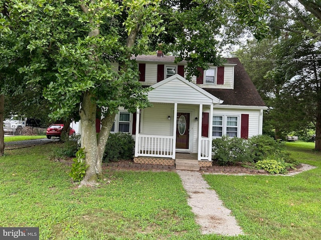
<path fill-rule="evenodd" d="M 321 153 L 314 143 L 286 144 L 317 168 L 294 176 L 205 175 L 245 233 L 258 239 L 318 239 L 321 235 Z"/>

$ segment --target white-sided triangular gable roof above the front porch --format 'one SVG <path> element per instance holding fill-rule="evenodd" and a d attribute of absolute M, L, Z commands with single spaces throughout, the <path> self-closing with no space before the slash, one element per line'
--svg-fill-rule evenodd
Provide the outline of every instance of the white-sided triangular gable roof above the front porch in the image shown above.
<path fill-rule="evenodd" d="M 148 92 L 150 102 L 221 104 L 223 100 L 205 91 L 179 74 L 170 76 L 151 86 Z"/>

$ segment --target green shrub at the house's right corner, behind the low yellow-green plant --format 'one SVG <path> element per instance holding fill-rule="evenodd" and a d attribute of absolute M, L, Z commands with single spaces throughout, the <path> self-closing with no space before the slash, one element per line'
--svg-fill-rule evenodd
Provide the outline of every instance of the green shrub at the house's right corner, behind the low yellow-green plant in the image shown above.
<path fill-rule="evenodd" d="M 274 154 L 286 158 L 284 146 L 284 142 L 276 141 L 268 135 L 256 135 L 249 138 L 249 147 L 254 162 L 263 160 L 267 156 Z"/>

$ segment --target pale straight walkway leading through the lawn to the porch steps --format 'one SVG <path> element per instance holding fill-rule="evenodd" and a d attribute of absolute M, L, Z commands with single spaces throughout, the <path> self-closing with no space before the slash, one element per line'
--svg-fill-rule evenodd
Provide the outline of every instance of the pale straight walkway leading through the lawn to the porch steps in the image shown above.
<path fill-rule="evenodd" d="M 215 233 L 235 236 L 243 234 L 231 210 L 223 206 L 214 190 L 197 171 L 177 170 L 183 186 L 189 194 L 188 204 L 196 215 L 196 222 L 203 234 Z"/>

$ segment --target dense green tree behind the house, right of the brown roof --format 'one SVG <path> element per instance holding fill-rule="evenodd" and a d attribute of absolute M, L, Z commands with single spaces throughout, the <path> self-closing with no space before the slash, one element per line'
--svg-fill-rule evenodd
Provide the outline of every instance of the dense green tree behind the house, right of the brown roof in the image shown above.
<path fill-rule="evenodd" d="M 269 109 L 264 116 L 267 133 L 275 138 L 291 131 L 304 132 L 317 122 L 319 50 L 297 34 L 248 41 L 235 52 L 248 70 Z M 264 130 L 263 129 L 263 130 Z"/>

